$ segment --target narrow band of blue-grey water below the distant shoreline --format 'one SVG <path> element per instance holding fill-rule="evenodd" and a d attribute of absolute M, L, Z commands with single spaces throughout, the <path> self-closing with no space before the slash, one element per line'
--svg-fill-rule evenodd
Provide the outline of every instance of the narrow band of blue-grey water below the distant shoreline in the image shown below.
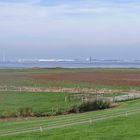
<path fill-rule="evenodd" d="M 112 62 L 112 61 L 77 61 L 77 62 L 0 62 L 0 68 L 140 68 L 140 61 Z"/>

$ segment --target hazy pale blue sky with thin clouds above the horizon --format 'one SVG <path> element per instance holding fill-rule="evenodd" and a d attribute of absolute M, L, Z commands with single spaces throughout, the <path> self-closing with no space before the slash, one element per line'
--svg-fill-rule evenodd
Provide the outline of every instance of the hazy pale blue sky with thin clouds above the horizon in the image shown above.
<path fill-rule="evenodd" d="M 140 59 L 140 0 L 0 0 L 3 53 Z"/>

